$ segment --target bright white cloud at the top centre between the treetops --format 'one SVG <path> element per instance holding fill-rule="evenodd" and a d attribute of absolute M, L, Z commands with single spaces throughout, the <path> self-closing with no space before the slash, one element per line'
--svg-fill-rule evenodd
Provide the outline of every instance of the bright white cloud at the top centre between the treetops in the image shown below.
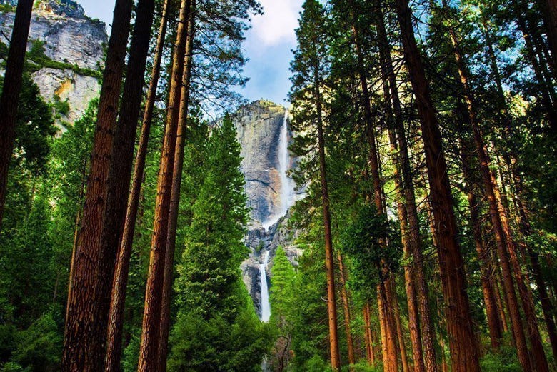
<path fill-rule="evenodd" d="M 264 46 L 274 46 L 283 42 L 295 42 L 294 30 L 298 28 L 298 13 L 302 0 L 259 0 L 265 14 L 255 16 L 253 29 L 254 39 Z"/>

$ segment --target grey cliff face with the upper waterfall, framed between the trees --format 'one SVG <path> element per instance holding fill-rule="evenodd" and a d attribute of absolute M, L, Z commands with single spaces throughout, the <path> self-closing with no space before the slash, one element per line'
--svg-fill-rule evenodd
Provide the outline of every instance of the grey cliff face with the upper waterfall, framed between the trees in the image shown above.
<path fill-rule="evenodd" d="M 284 172 L 291 169 L 296 161 L 286 150 L 290 134 L 288 126 L 286 129 L 283 127 L 288 121 L 283 106 L 269 101 L 255 101 L 242 106 L 231 119 L 242 148 L 241 171 L 246 178 L 245 190 L 251 207 L 251 221 L 245 238 L 251 253 L 241 264 L 241 271 L 256 311 L 261 313 L 259 268 L 264 252 L 269 251 L 268 278 L 278 246 L 283 247 L 293 265 L 297 265 L 296 261 L 301 256 L 301 249 L 293 243 L 296 232 L 289 231 L 286 224 L 287 208 L 293 199 L 303 197 L 303 190 L 296 193 L 288 191 L 293 185 Z"/>

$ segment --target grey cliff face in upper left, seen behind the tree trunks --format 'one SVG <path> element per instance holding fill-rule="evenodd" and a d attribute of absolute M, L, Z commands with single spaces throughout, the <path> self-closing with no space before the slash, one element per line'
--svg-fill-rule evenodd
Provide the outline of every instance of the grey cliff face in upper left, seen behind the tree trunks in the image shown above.
<path fill-rule="evenodd" d="M 17 3 L 15 0 L 0 1 L 11 5 Z M 8 39 L 11 37 L 14 18 L 14 13 L 0 14 L 0 31 Z M 74 1 L 36 1 L 27 49 L 31 49 L 36 41 L 43 44 L 46 57 L 60 62 L 61 68 L 41 68 L 34 72 L 33 79 L 46 101 L 53 101 L 55 95 L 61 101 L 67 99 L 70 111 L 62 120 L 72 123 L 83 114 L 89 101 L 99 95 L 99 79 L 76 71 L 101 71 L 103 68 L 107 41 L 105 25 L 87 18 L 81 5 Z M 79 69 L 64 69 L 68 65 Z"/>

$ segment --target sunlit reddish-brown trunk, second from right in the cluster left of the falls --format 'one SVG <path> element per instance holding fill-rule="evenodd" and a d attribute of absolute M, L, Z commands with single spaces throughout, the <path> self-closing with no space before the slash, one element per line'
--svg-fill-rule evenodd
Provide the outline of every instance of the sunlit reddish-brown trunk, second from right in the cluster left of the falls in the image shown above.
<path fill-rule="evenodd" d="M 141 326 L 138 372 L 157 371 L 159 366 L 159 336 L 161 321 L 161 288 L 164 283 L 164 261 L 166 236 L 169 227 L 169 211 L 174 154 L 176 150 L 176 130 L 179 120 L 182 76 L 184 74 L 184 55 L 186 54 L 187 19 L 191 0 L 182 0 L 180 21 L 176 34 L 172 77 L 169 94 L 166 129 L 161 153 L 161 166 L 157 182 L 153 237 L 149 257 L 149 274 L 145 289 L 145 308 Z"/>

